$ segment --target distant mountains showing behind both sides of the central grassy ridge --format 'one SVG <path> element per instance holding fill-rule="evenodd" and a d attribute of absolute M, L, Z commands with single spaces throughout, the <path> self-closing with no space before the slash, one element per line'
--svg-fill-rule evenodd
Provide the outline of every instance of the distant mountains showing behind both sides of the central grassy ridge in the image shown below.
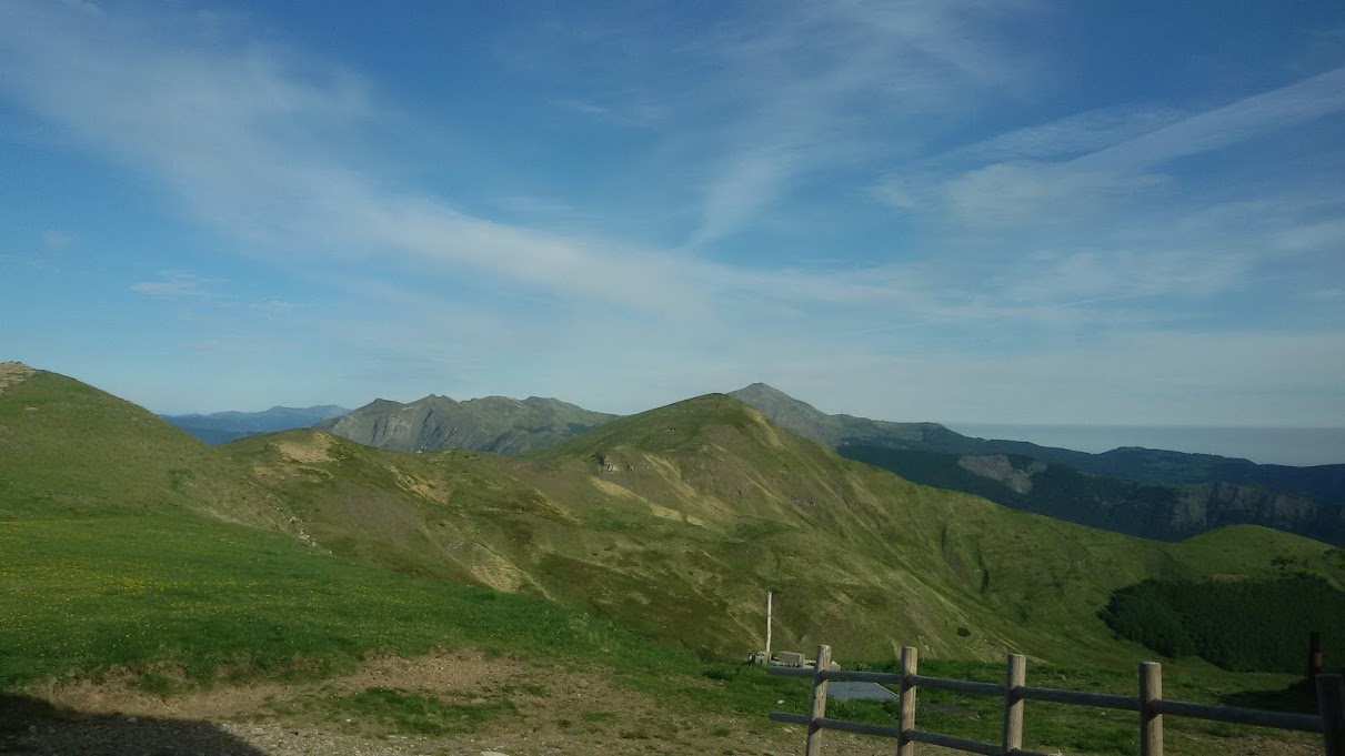
<path fill-rule="evenodd" d="M 1093 455 L 1026 441 L 963 436 L 936 422 L 826 414 L 765 383 L 729 395 L 842 456 L 902 478 L 1130 535 L 1180 541 L 1224 525 L 1262 525 L 1345 545 L 1345 465 L 1260 465 L 1213 455 L 1119 448 Z M 617 418 L 553 398 L 429 395 L 268 413 L 168 417 L 219 443 L 316 425 L 369 447 L 404 452 L 463 448 L 522 455 Z M 208 421 L 208 422 L 207 422 Z M 250 429 L 243 432 L 243 429 Z"/>

